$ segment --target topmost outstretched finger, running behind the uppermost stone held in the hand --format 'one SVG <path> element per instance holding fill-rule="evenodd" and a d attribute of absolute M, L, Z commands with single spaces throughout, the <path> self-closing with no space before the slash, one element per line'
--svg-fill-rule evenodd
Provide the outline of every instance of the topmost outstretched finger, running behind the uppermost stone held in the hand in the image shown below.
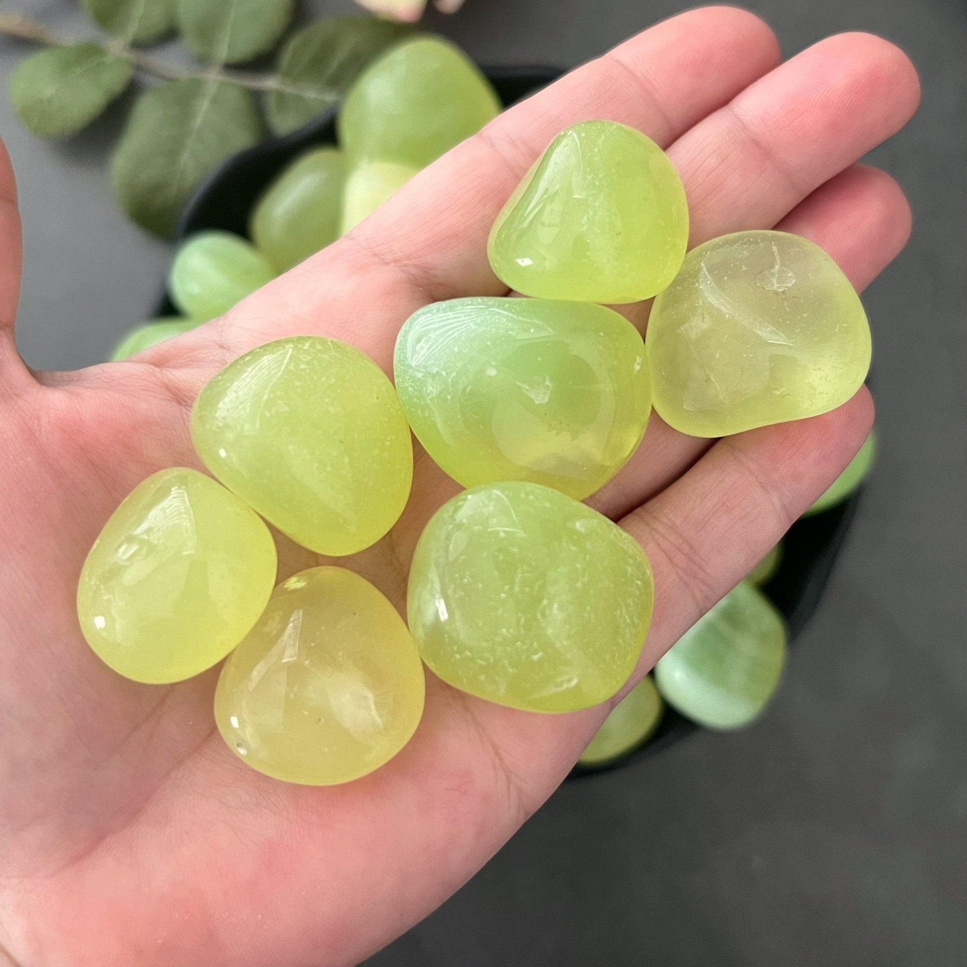
<path fill-rule="evenodd" d="M 578 121 L 608 119 L 667 147 L 778 61 L 776 38 L 755 15 L 708 7 L 672 17 L 506 111 L 429 169 L 424 182 L 432 192 L 414 180 L 360 226 L 355 241 L 405 267 L 431 299 L 503 295 L 507 287 L 487 263 L 487 234 L 554 135 Z M 423 240 L 416 257 L 415 239 Z"/>

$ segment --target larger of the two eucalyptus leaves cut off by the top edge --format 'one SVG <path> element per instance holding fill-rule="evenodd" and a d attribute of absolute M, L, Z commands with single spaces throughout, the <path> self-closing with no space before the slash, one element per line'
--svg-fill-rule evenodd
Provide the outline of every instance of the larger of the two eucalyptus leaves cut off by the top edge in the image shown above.
<path fill-rule="evenodd" d="M 275 46 L 293 0 L 177 0 L 178 27 L 191 53 L 212 64 L 239 64 Z"/>

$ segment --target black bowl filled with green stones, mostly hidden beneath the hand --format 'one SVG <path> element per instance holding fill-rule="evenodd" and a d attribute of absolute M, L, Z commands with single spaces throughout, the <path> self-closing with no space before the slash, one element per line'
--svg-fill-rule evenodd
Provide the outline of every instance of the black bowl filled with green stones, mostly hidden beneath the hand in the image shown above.
<path fill-rule="evenodd" d="M 533 94 L 562 72 L 530 67 L 484 69 L 484 73 L 503 103 L 509 105 Z M 289 161 L 312 145 L 336 142 L 336 115 L 336 110 L 328 111 L 305 128 L 263 141 L 225 161 L 190 199 L 178 223 L 175 241 L 210 228 L 248 235 L 249 212 L 269 182 Z M 163 293 L 156 307 L 156 317 L 175 314 L 177 310 Z M 795 641 L 806 626 L 823 596 L 859 499 L 859 492 L 854 493 L 845 503 L 829 511 L 797 521 L 783 540 L 778 571 L 763 590 L 785 616 L 790 642 Z M 593 775 L 628 765 L 678 742 L 697 729 L 698 726 L 689 719 L 666 708 L 658 730 L 637 751 L 593 769 L 578 767 L 572 775 Z"/>

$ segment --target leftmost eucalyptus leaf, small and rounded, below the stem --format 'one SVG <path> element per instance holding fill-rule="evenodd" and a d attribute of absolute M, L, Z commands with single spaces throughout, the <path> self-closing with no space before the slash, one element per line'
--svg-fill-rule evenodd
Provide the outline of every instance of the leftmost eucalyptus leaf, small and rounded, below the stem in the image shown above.
<path fill-rule="evenodd" d="M 20 120 L 41 137 L 86 128 L 131 82 L 131 62 L 98 44 L 47 47 L 25 57 L 8 93 Z"/>

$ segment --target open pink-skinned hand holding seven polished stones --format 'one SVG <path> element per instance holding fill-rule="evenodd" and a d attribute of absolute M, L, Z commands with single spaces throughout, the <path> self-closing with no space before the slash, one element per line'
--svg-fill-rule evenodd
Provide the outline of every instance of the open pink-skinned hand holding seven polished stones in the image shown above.
<path fill-rule="evenodd" d="M 16 355 L 19 225 L 4 161 L 0 945 L 13 962 L 355 964 L 452 894 L 550 795 L 607 706 L 542 716 L 428 676 L 425 717 L 387 766 L 334 788 L 292 786 L 224 747 L 217 670 L 149 687 L 103 666 L 76 626 L 77 574 L 135 484 L 198 465 L 190 406 L 220 366 L 273 338 L 319 334 L 389 372 L 396 332 L 417 308 L 504 294 L 487 232 L 574 122 L 620 121 L 668 148 L 689 194 L 690 245 L 778 226 L 829 251 L 862 289 L 902 248 L 910 215 L 887 175 L 855 161 L 913 113 L 916 73 L 892 44 L 861 34 L 779 62 L 753 15 L 710 8 L 665 21 L 506 112 L 226 316 L 78 372 L 32 373 Z M 644 308 L 627 311 L 644 326 Z M 871 422 L 865 390 L 825 416 L 718 443 L 652 417 L 638 452 L 591 500 L 642 542 L 655 571 L 632 681 L 833 482 Z M 416 460 L 396 528 L 342 562 L 400 609 L 414 543 L 457 489 L 424 454 Z M 278 545 L 280 577 L 324 563 Z"/>

